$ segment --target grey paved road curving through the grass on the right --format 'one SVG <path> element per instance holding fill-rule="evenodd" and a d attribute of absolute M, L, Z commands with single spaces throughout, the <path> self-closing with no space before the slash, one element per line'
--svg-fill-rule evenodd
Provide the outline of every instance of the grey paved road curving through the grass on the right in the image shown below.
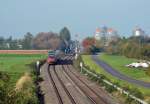
<path fill-rule="evenodd" d="M 116 69 L 112 68 L 110 65 L 108 65 L 104 61 L 100 60 L 97 55 L 93 55 L 92 59 L 99 66 L 101 66 L 105 71 L 107 71 L 108 73 L 110 73 L 111 75 L 113 75 L 113 76 L 115 76 L 115 77 L 117 77 L 117 78 L 119 78 L 121 80 L 127 81 L 129 83 L 136 84 L 138 86 L 142 86 L 142 87 L 145 87 L 145 88 L 150 88 L 150 83 L 133 79 L 131 77 L 128 77 L 127 75 L 124 75 L 124 74 L 118 72 Z"/>

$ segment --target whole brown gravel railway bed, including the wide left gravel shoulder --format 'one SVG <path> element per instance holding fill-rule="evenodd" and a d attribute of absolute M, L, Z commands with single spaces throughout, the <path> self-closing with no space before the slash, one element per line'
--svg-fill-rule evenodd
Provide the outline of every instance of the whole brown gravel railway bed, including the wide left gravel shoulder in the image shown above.
<path fill-rule="evenodd" d="M 76 71 L 72 57 L 63 59 L 57 65 L 41 67 L 44 104 L 117 104 L 104 89 Z"/>

